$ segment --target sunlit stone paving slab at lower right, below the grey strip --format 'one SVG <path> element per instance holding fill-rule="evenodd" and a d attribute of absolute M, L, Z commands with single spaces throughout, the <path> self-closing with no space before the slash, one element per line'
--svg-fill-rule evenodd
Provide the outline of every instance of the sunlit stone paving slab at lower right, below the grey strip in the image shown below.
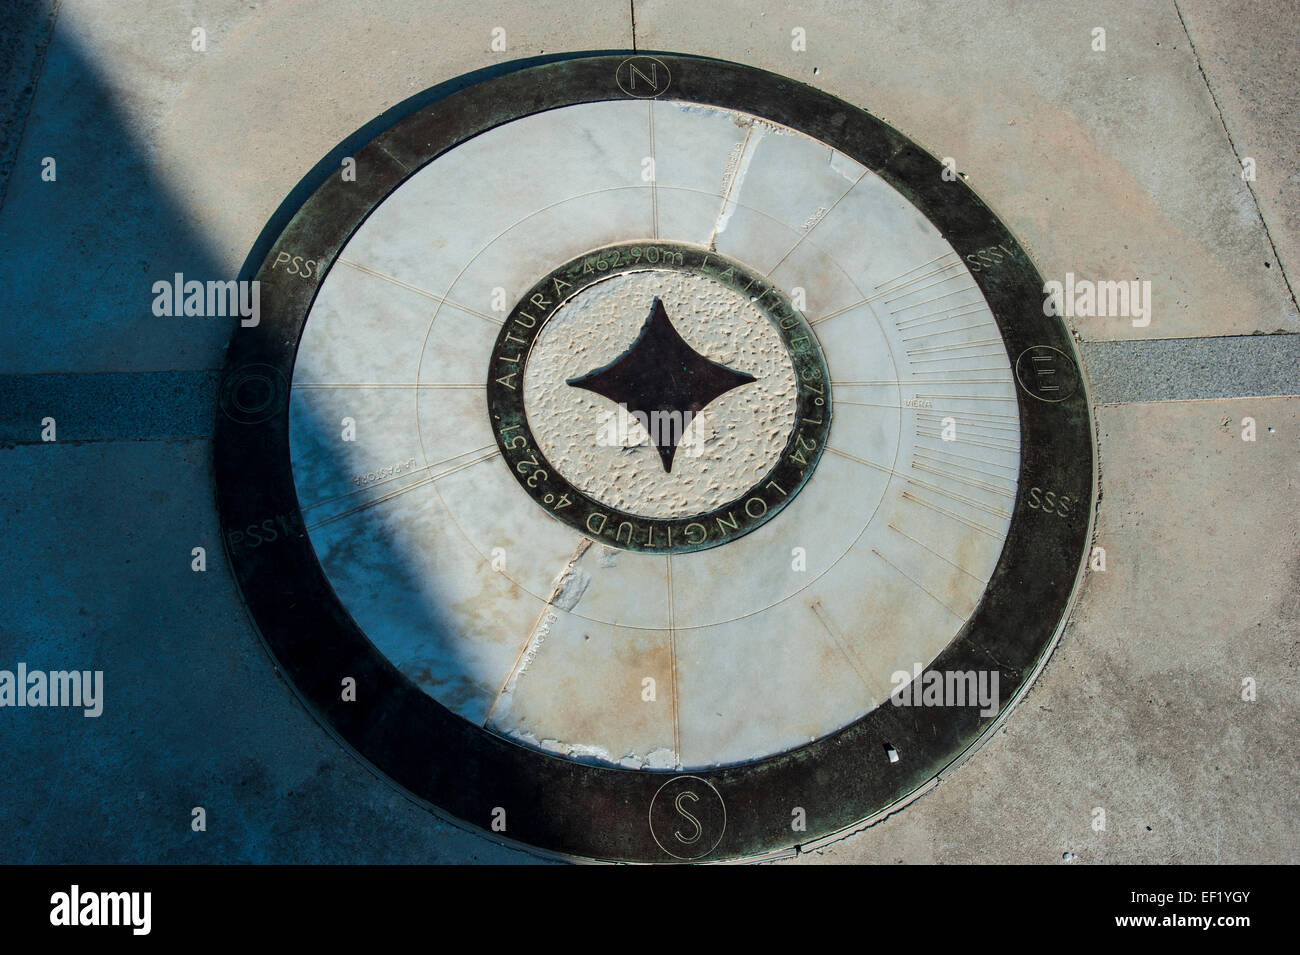
<path fill-rule="evenodd" d="M 1300 399 L 1102 407 L 1097 424 L 1106 570 L 1034 690 L 930 794 L 803 860 L 1295 859 Z"/>

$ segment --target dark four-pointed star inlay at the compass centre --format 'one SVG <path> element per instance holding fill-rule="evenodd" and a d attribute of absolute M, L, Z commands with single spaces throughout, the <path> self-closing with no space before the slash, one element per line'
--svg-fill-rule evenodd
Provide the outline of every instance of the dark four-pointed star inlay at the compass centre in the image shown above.
<path fill-rule="evenodd" d="M 758 381 L 710 361 L 677 334 L 656 298 L 641 334 L 623 355 L 603 368 L 569 378 L 568 385 L 594 391 L 629 413 L 642 413 L 655 424 L 650 440 L 666 472 L 672 470 L 677 442 L 690 421 L 715 398 Z M 659 426 L 672 422 L 671 426 Z"/>

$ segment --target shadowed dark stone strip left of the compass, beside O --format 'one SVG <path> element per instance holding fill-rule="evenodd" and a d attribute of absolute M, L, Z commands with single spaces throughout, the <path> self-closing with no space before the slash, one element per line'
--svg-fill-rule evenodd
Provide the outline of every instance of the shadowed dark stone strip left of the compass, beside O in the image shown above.
<path fill-rule="evenodd" d="M 209 438 L 220 372 L 0 376 L 0 444 Z"/>

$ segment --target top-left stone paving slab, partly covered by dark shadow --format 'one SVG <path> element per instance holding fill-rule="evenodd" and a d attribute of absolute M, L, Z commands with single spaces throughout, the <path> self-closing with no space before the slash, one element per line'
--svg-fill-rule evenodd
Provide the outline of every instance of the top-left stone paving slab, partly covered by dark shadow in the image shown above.
<path fill-rule="evenodd" d="M 286 196 L 430 87 L 629 39 L 625 4 L 61 3 L 0 209 L 0 288 L 29 316 L 0 326 L 0 374 L 220 368 L 229 330 L 156 317 L 153 282 L 235 278 Z"/>

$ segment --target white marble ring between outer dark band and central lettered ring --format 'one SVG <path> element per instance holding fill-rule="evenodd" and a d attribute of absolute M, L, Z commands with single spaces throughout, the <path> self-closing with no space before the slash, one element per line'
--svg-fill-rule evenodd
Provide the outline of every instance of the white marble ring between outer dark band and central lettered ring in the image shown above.
<path fill-rule="evenodd" d="M 484 175 L 520 157 L 526 175 Z M 816 470 L 780 515 L 671 556 L 606 547 L 529 498 L 484 383 L 507 309 L 538 277 L 654 239 L 716 249 L 780 287 L 822 344 L 835 408 Z M 953 641 L 1006 541 L 1017 386 L 971 274 L 992 261 L 967 264 L 850 157 L 734 110 L 608 101 L 498 126 L 399 186 L 321 285 L 290 395 L 312 546 L 402 673 L 523 745 L 698 769 L 833 733 L 889 706 L 897 674 Z M 777 364 L 738 331 L 714 342 L 670 314 L 714 360 Z M 616 338 L 590 339 L 608 352 L 572 372 L 556 338 L 549 381 L 616 356 Z M 759 412 L 786 426 L 775 403 Z M 547 440 L 581 477 L 592 448 L 566 451 L 560 429 Z M 603 492 L 655 505 L 623 483 Z"/>

